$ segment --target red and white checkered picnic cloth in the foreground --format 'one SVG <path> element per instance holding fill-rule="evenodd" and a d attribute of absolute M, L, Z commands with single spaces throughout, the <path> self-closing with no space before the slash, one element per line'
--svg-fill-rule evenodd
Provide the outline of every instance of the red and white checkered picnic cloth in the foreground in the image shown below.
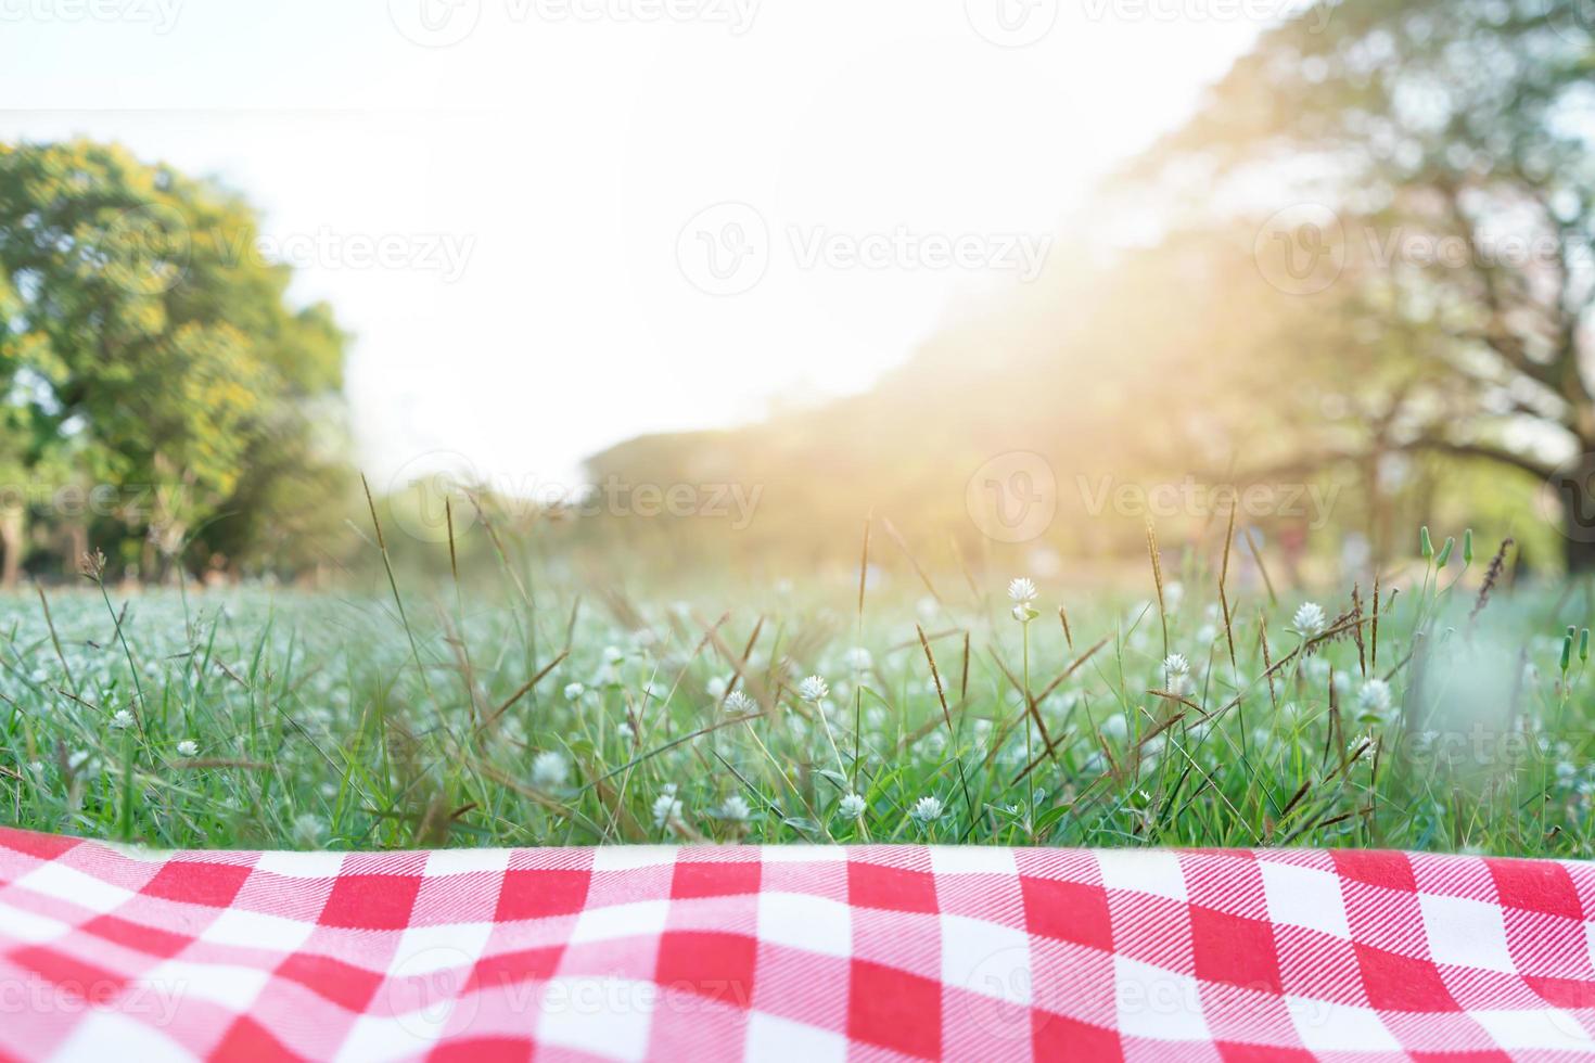
<path fill-rule="evenodd" d="M 0 1058 L 1573 1060 L 1595 865 L 0 829 Z"/>

